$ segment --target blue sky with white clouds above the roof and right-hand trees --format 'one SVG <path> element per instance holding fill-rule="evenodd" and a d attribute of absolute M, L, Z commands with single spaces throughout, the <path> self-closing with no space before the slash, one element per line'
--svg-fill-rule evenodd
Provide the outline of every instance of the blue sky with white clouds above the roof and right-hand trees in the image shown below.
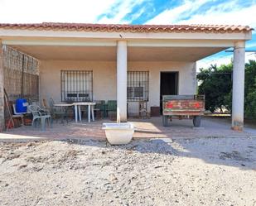
<path fill-rule="evenodd" d="M 256 28 L 256 0 L 0 0 L 0 22 L 85 22 L 121 24 L 229 24 Z M 256 50 L 256 31 L 247 50 Z M 220 52 L 198 67 L 225 64 Z M 247 53 L 246 60 L 256 59 Z"/>

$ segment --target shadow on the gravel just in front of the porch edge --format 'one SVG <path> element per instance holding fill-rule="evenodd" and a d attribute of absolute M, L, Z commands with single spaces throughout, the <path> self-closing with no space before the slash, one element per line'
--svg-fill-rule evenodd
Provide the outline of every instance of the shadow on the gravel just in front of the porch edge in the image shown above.
<path fill-rule="evenodd" d="M 107 141 L 69 140 L 69 144 L 98 146 L 113 150 L 156 153 L 164 156 L 197 158 L 208 164 L 239 167 L 256 171 L 255 138 L 199 138 L 199 139 L 151 139 L 133 140 L 124 146 L 111 146 Z M 181 168 L 182 170 L 182 168 Z"/>

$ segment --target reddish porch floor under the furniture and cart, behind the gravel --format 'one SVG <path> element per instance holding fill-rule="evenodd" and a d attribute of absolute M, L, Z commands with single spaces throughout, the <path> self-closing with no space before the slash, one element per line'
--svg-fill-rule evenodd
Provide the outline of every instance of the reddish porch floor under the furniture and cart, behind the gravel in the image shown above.
<path fill-rule="evenodd" d="M 129 119 L 136 127 L 134 138 L 199 138 L 199 137 L 256 137 L 256 129 L 244 127 L 244 132 L 234 132 L 230 129 L 227 119 L 204 117 L 201 127 L 193 127 L 192 120 L 177 120 L 169 122 L 169 127 L 162 127 L 162 117 L 149 119 Z M 103 122 L 108 119 L 95 122 L 69 123 L 54 122 L 52 128 L 46 128 L 41 132 L 40 128 L 23 126 L 14 128 L 8 132 L 0 133 L 0 141 L 32 141 L 32 140 L 65 140 L 77 138 L 91 138 L 104 140 L 105 134 L 101 129 Z"/>

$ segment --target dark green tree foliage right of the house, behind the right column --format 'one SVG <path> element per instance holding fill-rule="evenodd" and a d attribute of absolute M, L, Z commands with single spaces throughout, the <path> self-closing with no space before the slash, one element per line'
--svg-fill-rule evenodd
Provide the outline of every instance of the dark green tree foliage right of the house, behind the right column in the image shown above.
<path fill-rule="evenodd" d="M 232 69 L 233 65 L 211 65 L 200 69 L 198 93 L 205 94 L 205 109 L 214 112 L 232 106 Z M 245 64 L 244 77 L 244 115 L 256 119 L 256 61 Z"/>

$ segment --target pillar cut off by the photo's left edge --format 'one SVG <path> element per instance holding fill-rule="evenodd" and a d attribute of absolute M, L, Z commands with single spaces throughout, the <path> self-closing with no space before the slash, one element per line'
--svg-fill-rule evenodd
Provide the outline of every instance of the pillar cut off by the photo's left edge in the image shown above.
<path fill-rule="evenodd" d="M 0 132 L 5 129 L 3 80 L 3 51 L 0 40 Z"/>

